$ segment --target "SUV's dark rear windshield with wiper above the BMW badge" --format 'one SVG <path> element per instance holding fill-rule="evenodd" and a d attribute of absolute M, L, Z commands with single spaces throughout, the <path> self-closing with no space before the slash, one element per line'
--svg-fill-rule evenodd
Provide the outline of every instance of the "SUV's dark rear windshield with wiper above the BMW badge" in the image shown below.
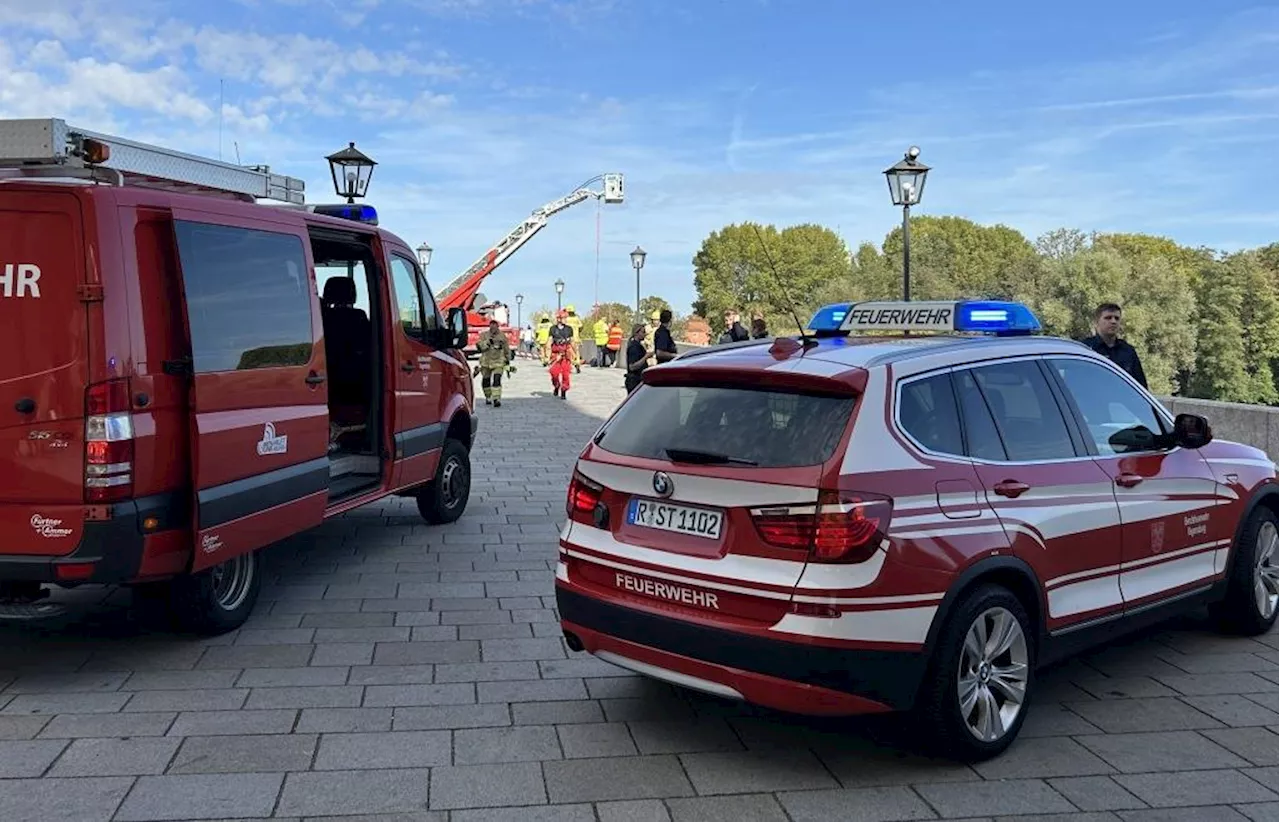
<path fill-rule="evenodd" d="M 831 458 L 852 397 L 750 388 L 641 385 L 596 444 L 628 457 L 796 467 Z"/>

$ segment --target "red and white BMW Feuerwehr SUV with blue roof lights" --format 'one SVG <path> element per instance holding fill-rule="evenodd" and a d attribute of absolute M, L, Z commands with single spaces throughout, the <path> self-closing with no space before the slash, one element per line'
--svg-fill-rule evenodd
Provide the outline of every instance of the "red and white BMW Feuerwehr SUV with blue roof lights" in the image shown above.
<path fill-rule="evenodd" d="M 846 303 L 645 371 L 570 485 L 568 645 L 785 711 L 911 709 L 979 759 L 1038 666 L 1197 603 L 1268 630 L 1275 463 L 1038 328 Z M 946 333 L 863 333 L 902 330 Z"/>

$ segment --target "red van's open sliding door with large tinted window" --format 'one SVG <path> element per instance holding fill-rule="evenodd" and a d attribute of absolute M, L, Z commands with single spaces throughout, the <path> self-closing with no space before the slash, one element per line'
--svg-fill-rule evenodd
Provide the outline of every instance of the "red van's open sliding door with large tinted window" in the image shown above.
<path fill-rule="evenodd" d="M 174 211 L 174 236 L 191 342 L 200 571 L 324 519 L 328 388 L 301 224 Z"/>

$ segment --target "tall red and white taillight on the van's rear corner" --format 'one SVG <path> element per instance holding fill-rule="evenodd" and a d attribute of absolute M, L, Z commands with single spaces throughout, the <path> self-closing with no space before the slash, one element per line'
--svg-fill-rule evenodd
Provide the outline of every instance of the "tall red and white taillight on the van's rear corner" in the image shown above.
<path fill-rule="evenodd" d="M 84 392 L 84 502 L 133 496 L 133 415 L 129 382 L 95 383 Z"/>

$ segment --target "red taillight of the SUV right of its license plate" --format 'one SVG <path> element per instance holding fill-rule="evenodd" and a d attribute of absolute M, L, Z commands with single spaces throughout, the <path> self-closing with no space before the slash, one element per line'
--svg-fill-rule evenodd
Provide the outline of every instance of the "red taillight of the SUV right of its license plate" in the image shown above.
<path fill-rule="evenodd" d="M 813 562 L 865 562 L 884 538 L 892 512 L 884 497 L 824 490 L 817 506 L 758 508 L 751 520 L 760 539 L 808 551 Z"/>

